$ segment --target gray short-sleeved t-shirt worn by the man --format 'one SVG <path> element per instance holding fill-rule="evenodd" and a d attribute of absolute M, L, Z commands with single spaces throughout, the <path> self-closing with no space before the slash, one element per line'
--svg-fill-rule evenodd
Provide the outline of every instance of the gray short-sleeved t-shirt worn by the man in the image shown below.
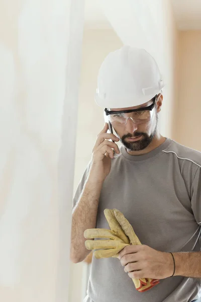
<path fill-rule="evenodd" d="M 201 153 L 169 138 L 140 156 L 121 146 L 100 194 L 96 228 L 109 229 L 106 208 L 120 210 L 142 244 L 163 252 L 200 251 Z M 85 301 L 190 302 L 201 295 L 200 287 L 199 278 L 174 276 L 138 292 L 119 259 L 93 257 Z"/>

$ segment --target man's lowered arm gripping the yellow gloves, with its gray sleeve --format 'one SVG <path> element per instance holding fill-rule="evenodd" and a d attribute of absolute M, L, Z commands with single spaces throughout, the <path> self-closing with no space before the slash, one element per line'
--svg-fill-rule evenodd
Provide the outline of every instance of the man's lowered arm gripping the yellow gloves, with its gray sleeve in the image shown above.
<path fill-rule="evenodd" d="M 201 167 L 197 167 L 191 186 L 191 208 L 201 225 Z M 149 246 L 128 246 L 119 253 L 121 264 L 131 278 L 164 279 L 172 276 L 201 278 L 201 252 L 160 252 Z M 175 271 L 174 271 L 175 262 Z"/>

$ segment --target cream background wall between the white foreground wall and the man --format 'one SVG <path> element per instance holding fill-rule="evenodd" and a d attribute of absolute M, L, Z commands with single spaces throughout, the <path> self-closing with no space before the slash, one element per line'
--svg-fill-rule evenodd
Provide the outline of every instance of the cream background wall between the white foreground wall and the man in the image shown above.
<path fill-rule="evenodd" d="M 122 47 L 114 30 L 85 30 L 82 44 L 81 81 L 76 139 L 74 190 L 90 160 L 97 134 L 104 126 L 103 109 L 94 101 L 97 73 L 109 52 Z M 86 279 L 85 263 L 71 263 L 69 302 L 81 302 Z M 85 292 L 84 292 L 85 294 Z"/>

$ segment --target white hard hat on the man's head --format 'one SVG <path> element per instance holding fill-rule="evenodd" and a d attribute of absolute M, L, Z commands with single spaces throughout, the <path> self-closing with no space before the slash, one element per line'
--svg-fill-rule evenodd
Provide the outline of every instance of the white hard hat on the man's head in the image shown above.
<path fill-rule="evenodd" d="M 95 102 L 103 108 L 127 108 L 147 103 L 164 87 L 154 58 L 145 50 L 124 46 L 100 66 Z"/>

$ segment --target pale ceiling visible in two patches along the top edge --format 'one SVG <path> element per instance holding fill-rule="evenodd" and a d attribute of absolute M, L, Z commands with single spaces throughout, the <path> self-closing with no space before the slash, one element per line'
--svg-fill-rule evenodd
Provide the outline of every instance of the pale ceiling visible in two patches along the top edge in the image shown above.
<path fill-rule="evenodd" d="M 99 8 L 101 0 L 85 0 L 85 27 L 112 28 L 104 12 Z M 171 0 L 179 30 L 201 30 L 201 0 Z"/>

